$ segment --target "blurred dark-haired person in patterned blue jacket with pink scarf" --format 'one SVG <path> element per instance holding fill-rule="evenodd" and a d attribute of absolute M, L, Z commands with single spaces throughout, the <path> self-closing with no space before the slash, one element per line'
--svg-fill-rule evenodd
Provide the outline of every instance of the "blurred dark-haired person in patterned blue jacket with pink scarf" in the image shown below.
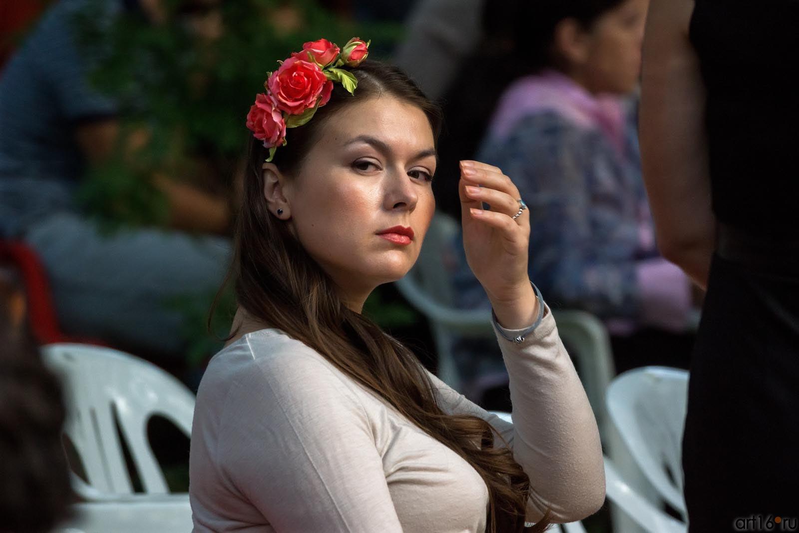
<path fill-rule="evenodd" d="M 619 372 L 686 367 L 692 342 L 690 281 L 658 253 L 641 178 L 631 95 L 646 9 L 647 0 L 539 0 L 513 2 L 496 18 L 487 6 L 499 48 L 480 50 L 465 70 L 471 83 L 456 84 L 460 101 L 479 102 L 495 71 L 516 76 L 476 157 L 513 176 L 530 206 L 531 279 L 558 308 L 606 321 Z M 455 131 L 467 131 L 467 106 L 457 116 Z M 462 307 L 484 304 L 466 268 L 455 285 Z M 479 388 L 507 379 L 471 353 L 463 365 Z"/>

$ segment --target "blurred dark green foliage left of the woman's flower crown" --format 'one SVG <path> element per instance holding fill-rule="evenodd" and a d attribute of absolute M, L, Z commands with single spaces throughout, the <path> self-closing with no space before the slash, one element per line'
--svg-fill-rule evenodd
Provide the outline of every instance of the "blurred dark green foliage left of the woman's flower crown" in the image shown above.
<path fill-rule="evenodd" d="M 244 117 L 276 60 L 306 41 L 324 37 L 343 45 L 353 36 L 372 39 L 372 58 L 380 58 L 403 34 L 395 23 L 336 18 L 312 0 L 237 0 L 221 2 L 224 32 L 209 43 L 193 38 L 180 0 L 165 0 L 170 22 L 161 25 L 136 11 L 109 13 L 107 0 L 87 2 L 75 14 L 75 28 L 93 84 L 120 106 L 121 135 L 108 160 L 89 169 L 78 200 L 109 232 L 166 225 L 167 201 L 153 177 L 233 190 L 250 135 Z M 191 366 L 217 351 L 229 332 L 232 290 L 223 294 L 209 336 L 212 301 L 213 294 L 195 294 L 165 302 L 185 316 Z M 387 328 L 416 320 L 410 308 L 384 301 L 380 290 L 364 312 Z"/>

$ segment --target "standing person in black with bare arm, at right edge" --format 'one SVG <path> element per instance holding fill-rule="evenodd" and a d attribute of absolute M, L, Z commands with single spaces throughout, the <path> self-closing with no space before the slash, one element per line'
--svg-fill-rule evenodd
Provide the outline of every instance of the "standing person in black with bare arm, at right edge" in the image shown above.
<path fill-rule="evenodd" d="M 688 526 L 742 529 L 799 509 L 799 2 L 653 0 L 648 18 L 658 245 L 707 288 L 682 440 Z"/>

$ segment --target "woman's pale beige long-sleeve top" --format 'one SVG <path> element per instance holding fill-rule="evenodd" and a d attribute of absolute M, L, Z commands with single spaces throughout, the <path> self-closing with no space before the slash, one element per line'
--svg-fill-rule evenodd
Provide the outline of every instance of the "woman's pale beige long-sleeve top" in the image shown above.
<path fill-rule="evenodd" d="M 431 376 L 446 412 L 488 420 L 530 476 L 527 520 L 593 514 L 605 498 L 594 415 L 547 309 L 521 344 L 497 336 L 510 424 Z M 470 532 L 486 527 L 474 468 L 373 392 L 276 329 L 211 360 L 197 393 L 194 531 Z"/>

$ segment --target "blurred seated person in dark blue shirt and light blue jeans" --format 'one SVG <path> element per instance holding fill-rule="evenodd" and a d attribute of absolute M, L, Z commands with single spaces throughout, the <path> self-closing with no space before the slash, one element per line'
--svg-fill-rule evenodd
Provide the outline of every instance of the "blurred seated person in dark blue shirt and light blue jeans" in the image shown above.
<path fill-rule="evenodd" d="M 165 3 L 55 2 L 0 76 L 0 238 L 24 241 L 41 257 L 66 333 L 157 355 L 183 345 L 181 314 L 165 299 L 211 292 L 224 276 L 230 244 L 217 236 L 228 232 L 229 201 L 159 175 L 153 184 L 166 198 L 170 229 L 109 235 L 81 211 L 79 181 L 123 137 L 118 102 L 89 80 L 109 43 L 81 48 L 75 20 L 88 14 L 110 25 L 133 16 L 179 25 L 198 42 L 221 35 L 215 0 L 180 2 L 174 19 Z M 141 145 L 147 137 L 142 130 L 125 138 Z"/>

